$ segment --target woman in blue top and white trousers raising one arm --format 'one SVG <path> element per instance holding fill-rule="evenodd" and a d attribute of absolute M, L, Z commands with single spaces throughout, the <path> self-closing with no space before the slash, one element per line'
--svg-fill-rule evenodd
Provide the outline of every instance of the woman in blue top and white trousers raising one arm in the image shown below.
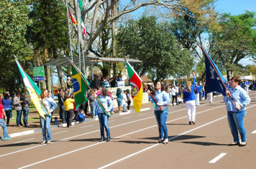
<path fill-rule="evenodd" d="M 188 124 L 195 125 L 196 120 L 196 96 L 194 94 L 195 84 L 196 84 L 196 77 L 195 72 L 193 74 L 193 84 L 190 80 L 188 80 L 186 87 L 183 89 L 183 102 L 185 102 L 187 107 L 187 114 L 188 114 Z"/>

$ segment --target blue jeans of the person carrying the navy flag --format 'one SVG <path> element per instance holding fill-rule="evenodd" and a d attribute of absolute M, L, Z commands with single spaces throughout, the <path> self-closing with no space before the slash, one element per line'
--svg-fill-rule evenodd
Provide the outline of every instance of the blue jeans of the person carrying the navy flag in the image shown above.
<path fill-rule="evenodd" d="M 227 112 L 227 120 L 229 121 L 229 128 L 232 132 L 234 143 L 239 143 L 238 131 L 240 133 L 242 142 L 246 143 L 246 130 L 244 128 L 245 114 L 246 110 L 242 112 Z"/>

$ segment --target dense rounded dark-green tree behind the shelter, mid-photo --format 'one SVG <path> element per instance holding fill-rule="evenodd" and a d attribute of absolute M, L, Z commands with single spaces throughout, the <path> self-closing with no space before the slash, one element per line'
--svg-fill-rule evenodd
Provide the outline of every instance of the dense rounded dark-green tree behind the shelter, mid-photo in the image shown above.
<path fill-rule="evenodd" d="M 140 59 L 142 63 L 135 64 L 134 69 L 141 75 L 148 73 L 155 82 L 182 72 L 179 71 L 180 65 L 190 55 L 190 52 L 176 45 L 170 24 L 157 23 L 155 16 L 130 20 L 127 26 L 119 29 L 117 44 L 119 56 Z M 183 71 L 186 72 L 186 69 Z"/>

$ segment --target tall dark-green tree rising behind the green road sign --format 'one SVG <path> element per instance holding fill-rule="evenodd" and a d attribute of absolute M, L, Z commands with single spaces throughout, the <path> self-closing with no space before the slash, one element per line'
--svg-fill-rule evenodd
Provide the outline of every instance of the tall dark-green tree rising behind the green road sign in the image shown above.
<path fill-rule="evenodd" d="M 33 25 L 30 42 L 33 44 L 37 65 L 42 66 L 50 59 L 67 56 L 68 22 L 63 1 L 35 0 L 30 14 Z M 62 67 L 58 67 L 58 77 L 64 87 Z M 50 90 L 50 69 L 47 67 L 47 87 Z"/>

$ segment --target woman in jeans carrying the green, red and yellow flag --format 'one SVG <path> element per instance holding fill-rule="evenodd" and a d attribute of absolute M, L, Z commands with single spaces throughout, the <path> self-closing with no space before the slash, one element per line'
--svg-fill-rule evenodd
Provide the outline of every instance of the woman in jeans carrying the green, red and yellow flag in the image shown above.
<path fill-rule="evenodd" d="M 147 93 L 150 95 L 150 90 L 147 90 Z M 165 123 L 168 117 L 170 98 L 168 93 L 165 92 L 165 84 L 163 82 L 157 82 L 155 95 L 153 97 L 155 97 L 155 100 L 150 95 L 150 101 L 155 105 L 155 118 L 159 130 L 159 140 L 157 143 L 166 145 L 168 144 L 168 128 Z"/>

